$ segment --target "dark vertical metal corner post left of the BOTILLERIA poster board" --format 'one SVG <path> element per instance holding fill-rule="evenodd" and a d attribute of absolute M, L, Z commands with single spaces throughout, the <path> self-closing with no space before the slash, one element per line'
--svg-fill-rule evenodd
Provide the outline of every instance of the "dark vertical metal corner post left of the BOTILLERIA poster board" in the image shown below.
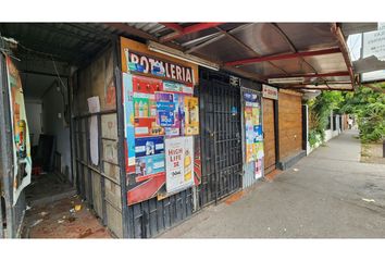
<path fill-rule="evenodd" d="M 128 204 L 126 184 L 126 162 L 124 151 L 124 110 L 123 110 L 123 86 L 121 71 L 121 45 L 119 38 L 113 41 L 113 73 L 116 88 L 116 115 L 117 115 L 117 158 L 121 170 L 121 195 L 122 195 L 122 226 L 123 237 L 128 237 Z"/>

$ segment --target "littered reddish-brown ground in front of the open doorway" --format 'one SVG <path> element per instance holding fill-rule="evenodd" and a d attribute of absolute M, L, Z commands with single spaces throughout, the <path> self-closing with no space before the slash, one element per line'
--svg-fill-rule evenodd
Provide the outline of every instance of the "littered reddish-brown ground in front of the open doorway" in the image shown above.
<path fill-rule="evenodd" d="M 26 211 L 23 238 L 111 238 L 78 196 Z"/>

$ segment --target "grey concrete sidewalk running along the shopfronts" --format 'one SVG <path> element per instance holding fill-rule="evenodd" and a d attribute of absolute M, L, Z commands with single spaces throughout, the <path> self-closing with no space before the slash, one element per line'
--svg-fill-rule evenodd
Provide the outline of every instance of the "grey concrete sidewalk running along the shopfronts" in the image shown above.
<path fill-rule="evenodd" d="M 273 182 L 258 183 L 232 204 L 209 207 L 160 237 L 385 237 L 385 166 L 359 162 L 356 135 L 341 134 Z"/>

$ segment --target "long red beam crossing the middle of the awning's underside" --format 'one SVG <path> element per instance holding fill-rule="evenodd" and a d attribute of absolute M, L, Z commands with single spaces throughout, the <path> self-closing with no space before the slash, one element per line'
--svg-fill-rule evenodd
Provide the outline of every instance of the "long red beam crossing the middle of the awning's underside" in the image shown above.
<path fill-rule="evenodd" d="M 339 48 L 330 48 L 330 49 L 322 49 L 322 50 L 316 50 L 316 51 L 303 51 L 303 52 L 286 53 L 286 54 L 278 54 L 278 55 L 249 58 L 249 59 L 244 59 L 244 60 L 238 60 L 238 61 L 226 62 L 225 64 L 229 65 L 229 66 L 237 66 L 237 65 L 245 65 L 245 64 L 250 64 L 250 63 L 286 60 L 286 59 L 293 59 L 293 58 L 325 55 L 325 54 L 332 54 L 332 53 L 338 53 L 338 52 L 340 52 Z"/>

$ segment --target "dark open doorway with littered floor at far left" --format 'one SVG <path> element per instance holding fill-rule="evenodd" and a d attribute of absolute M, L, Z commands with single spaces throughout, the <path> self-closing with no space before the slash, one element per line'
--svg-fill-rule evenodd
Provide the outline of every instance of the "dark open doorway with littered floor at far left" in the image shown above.
<path fill-rule="evenodd" d="M 67 78 L 23 70 L 26 66 L 18 64 L 33 162 L 25 198 L 35 207 L 73 196 L 76 189 L 71 170 Z"/>

